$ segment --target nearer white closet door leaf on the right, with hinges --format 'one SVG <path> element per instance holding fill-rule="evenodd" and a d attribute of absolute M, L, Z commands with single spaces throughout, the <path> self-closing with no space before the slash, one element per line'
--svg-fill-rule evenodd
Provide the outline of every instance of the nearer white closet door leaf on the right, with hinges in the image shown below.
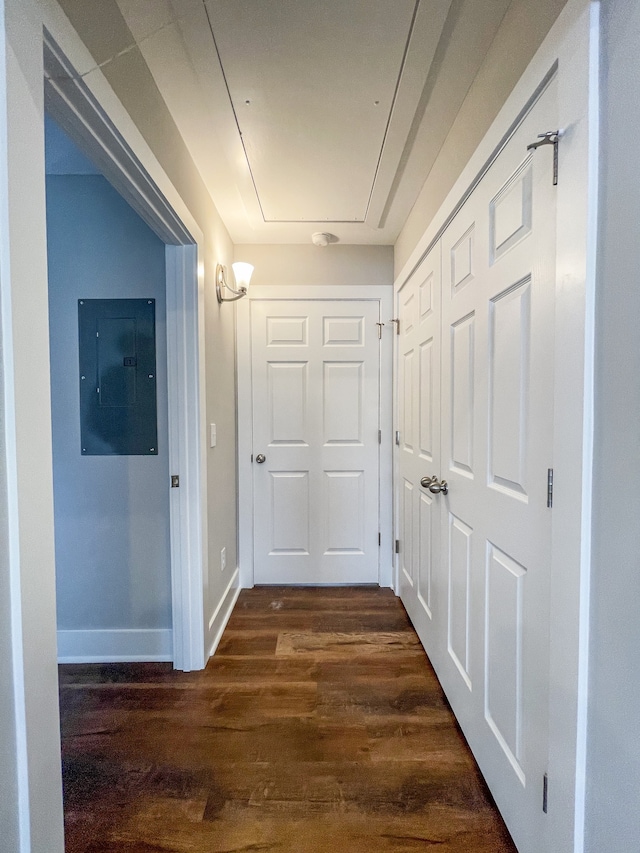
<path fill-rule="evenodd" d="M 440 677 L 521 853 L 544 850 L 553 467 L 555 84 L 442 239 Z"/>

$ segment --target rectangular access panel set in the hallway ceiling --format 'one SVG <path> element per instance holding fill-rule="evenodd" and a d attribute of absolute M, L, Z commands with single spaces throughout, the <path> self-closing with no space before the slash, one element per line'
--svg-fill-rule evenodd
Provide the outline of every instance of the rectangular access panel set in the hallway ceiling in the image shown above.
<path fill-rule="evenodd" d="M 416 9 L 207 2 L 266 222 L 365 221 Z"/>

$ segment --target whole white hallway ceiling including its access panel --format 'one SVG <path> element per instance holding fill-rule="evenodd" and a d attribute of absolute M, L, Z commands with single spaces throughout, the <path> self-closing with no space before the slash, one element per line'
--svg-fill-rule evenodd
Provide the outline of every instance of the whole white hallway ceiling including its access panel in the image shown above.
<path fill-rule="evenodd" d="M 509 0 L 117 0 L 236 243 L 392 244 Z"/>

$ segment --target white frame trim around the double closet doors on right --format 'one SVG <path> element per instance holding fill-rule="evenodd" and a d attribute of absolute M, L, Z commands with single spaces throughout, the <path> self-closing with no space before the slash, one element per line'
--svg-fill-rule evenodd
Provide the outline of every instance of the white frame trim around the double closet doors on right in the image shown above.
<path fill-rule="evenodd" d="M 558 74 L 549 850 L 584 850 L 599 157 L 599 0 L 569 0 L 396 276 L 397 294 Z M 533 93 L 533 94 L 532 94 Z M 524 106 L 523 106 L 524 105 Z M 540 128 L 540 132 L 551 128 Z M 533 140 L 532 140 L 533 141 Z M 551 165 L 550 165 L 551 169 Z M 397 383 L 396 383 L 397 392 Z M 394 424 L 397 400 L 394 394 Z M 394 427 L 395 428 L 395 427 Z M 541 472 L 543 475 L 546 472 Z M 397 484 L 394 484 L 394 504 Z M 394 580 L 397 582 L 397 561 Z M 542 798 L 542 780 L 540 780 Z M 542 801 L 542 800 L 541 800 Z"/>

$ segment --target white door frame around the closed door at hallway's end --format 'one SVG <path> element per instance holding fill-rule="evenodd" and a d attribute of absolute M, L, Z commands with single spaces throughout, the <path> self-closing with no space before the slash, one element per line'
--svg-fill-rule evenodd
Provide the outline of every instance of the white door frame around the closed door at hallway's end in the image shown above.
<path fill-rule="evenodd" d="M 236 364 L 238 382 L 238 564 L 240 586 L 253 586 L 253 404 L 251 384 L 251 303 L 259 300 L 323 302 L 336 300 L 378 302 L 382 327 L 380 347 L 380 429 L 379 446 L 379 513 L 380 560 L 378 583 L 392 584 L 392 519 L 393 519 L 393 441 L 392 441 L 392 376 L 394 326 L 389 322 L 393 308 L 391 284 L 372 285 L 321 285 L 291 287 L 273 285 L 254 287 L 248 298 L 237 304 Z"/>

